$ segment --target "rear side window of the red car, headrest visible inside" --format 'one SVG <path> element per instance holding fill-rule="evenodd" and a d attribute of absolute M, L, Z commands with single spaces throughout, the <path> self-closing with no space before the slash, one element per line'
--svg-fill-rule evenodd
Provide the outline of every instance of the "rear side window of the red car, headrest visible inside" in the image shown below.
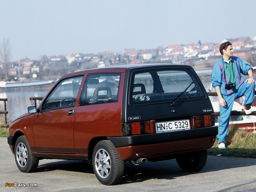
<path fill-rule="evenodd" d="M 118 101 L 121 73 L 93 73 L 87 76 L 79 106 Z"/>

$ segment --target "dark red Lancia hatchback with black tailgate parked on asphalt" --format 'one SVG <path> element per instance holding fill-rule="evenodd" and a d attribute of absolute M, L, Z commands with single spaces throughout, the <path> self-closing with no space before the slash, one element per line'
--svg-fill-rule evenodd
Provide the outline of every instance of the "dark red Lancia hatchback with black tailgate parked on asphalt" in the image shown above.
<path fill-rule="evenodd" d="M 124 162 L 176 158 L 201 170 L 218 134 L 211 101 L 190 66 L 125 65 L 61 77 L 38 108 L 15 119 L 8 143 L 21 172 L 41 159 L 84 160 L 105 185 Z"/>

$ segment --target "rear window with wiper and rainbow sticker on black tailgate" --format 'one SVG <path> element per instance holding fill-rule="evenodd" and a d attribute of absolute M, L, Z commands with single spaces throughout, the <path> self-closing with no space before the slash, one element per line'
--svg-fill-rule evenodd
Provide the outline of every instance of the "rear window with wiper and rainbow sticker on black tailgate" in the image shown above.
<path fill-rule="evenodd" d="M 206 98 L 189 69 L 133 72 L 130 101 L 134 105 Z"/>

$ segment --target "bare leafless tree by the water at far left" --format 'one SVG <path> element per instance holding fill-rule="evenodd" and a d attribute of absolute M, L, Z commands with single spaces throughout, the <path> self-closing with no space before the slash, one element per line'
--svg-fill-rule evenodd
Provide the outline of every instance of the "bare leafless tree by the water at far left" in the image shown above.
<path fill-rule="evenodd" d="M 0 44 L 0 62 L 3 65 L 4 78 L 8 78 L 8 70 L 10 68 L 9 61 L 11 60 L 11 48 L 9 45 L 9 39 L 4 39 Z"/>

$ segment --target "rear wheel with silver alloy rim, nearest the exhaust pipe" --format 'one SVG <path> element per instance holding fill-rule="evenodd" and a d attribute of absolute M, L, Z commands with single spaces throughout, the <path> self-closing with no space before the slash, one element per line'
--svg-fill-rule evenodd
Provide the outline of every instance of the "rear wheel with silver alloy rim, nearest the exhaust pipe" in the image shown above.
<path fill-rule="evenodd" d="M 104 185 L 115 185 L 123 178 L 124 161 L 109 140 L 96 144 L 92 153 L 92 166 L 97 179 Z"/>

